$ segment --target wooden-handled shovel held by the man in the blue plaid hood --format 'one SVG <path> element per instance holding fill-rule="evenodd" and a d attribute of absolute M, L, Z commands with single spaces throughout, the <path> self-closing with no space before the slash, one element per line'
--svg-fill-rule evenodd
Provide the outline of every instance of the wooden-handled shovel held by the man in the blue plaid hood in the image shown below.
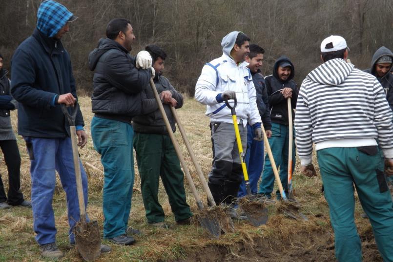
<path fill-rule="evenodd" d="M 82 189 L 82 175 L 81 167 L 79 165 L 78 142 L 75 129 L 75 118 L 78 112 L 78 103 L 75 102 L 71 108 L 71 114 L 68 109 L 62 104 L 62 112 L 68 120 L 70 126 L 70 136 L 72 144 L 72 155 L 74 158 L 75 178 L 77 183 L 77 193 L 79 202 L 80 220 L 75 225 L 73 231 L 75 234 L 75 243 L 85 261 L 94 261 L 101 253 L 101 236 L 97 221 L 90 221 L 86 223 L 86 210 L 84 206 L 83 189 Z"/>

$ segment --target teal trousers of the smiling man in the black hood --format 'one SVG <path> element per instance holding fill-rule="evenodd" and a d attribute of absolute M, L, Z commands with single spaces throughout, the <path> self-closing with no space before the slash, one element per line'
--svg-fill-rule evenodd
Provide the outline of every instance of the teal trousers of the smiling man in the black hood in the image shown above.
<path fill-rule="evenodd" d="M 282 124 L 271 123 L 272 135 L 269 138 L 269 145 L 273 154 L 274 162 L 277 169 L 280 168 L 280 180 L 283 184 L 284 190 L 288 191 L 288 147 L 289 147 L 289 127 Z M 293 129 L 293 138 L 295 130 Z M 292 173 L 295 169 L 296 154 L 295 154 L 295 139 L 292 144 Z M 259 185 L 258 193 L 265 194 L 267 197 L 271 196 L 274 187 L 274 173 L 271 168 L 269 155 L 265 156 L 265 168 L 262 173 L 262 182 Z M 277 198 L 281 198 L 280 191 L 276 191 Z"/>

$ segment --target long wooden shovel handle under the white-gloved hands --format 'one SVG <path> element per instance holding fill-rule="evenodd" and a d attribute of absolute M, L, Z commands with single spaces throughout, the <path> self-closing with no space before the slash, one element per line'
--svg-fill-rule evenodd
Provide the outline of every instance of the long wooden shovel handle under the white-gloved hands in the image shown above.
<path fill-rule="evenodd" d="M 198 208 L 200 210 L 202 210 L 203 209 L 203 204 L 202 204 L 201 198 L 200 198 L 200 196 L 198 194 L 198 191 L 197 191 L 197 189 L 196 189 L 196 187 L 194 185 L 194 182 L 192 181 L 192 177 L 191 177 L 191 175 L 190 175 L 190 173 L 188 171 L 188 168 L 187 168 L 187 165 L 186 165 L 186 161 L 183 158 L 182 152 L 180 151 L 180 148 L 179 148 L 179 144 L 178 144 L 178 142 L 177 142 L 177 140 L 175 138 L 175 135 L 173 134 L 173 131 L 172 131 L 172 128 L 170 126 L 168 117 L 166 116 L 166 113 L 164 111 L 164 106 L 161 103 L 160 96 L 158 95 L 158 92 L 157 92 L 157 89 L 156 89 L 156 85 L 154 84 L 154 81 L 153 81 L 152 78 L 150 78 L 150 87 L 151 87 L 151 89 L 153 91 L 154 97 L 156 98 L 157 105 L 158 105 L 158 107 L 160 109 L 160 112 L 163 115 L 163 119 L 164 119 L 164 122 L 165 122 L 166 130 L 168 131 L 170 140 L 172 140 L 173 147 L 176 150 L 176 154 L 179 157 L 179 160 L 180 160 L 180 163 L 182 164 L 184 173 L 186 174 L 188 185 L 191 188 L 191 192 L 194 195 L 194 198 L 195 198 L 195 201 L 197 203 Z"/>

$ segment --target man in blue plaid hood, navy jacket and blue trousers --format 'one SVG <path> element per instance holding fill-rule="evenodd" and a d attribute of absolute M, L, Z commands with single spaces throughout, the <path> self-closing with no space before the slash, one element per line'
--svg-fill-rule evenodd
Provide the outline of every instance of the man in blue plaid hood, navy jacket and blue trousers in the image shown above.
<path fill-rule="evenodd" d="M 36 241 L 40 244 L 42 256 L 55 259 L 63 255 L 56 246 L 57 230 L 52 208 L 56 170 L 66 193 L 71 244 L 75 243 L 72 229 L 80 220 L 70 131 L 61 109 L 61 105 L 74 106 L 78 98 L 70 56 L 60 41 L 69 31 L 69 22 L 75 19 L 77 17 L 60 3 L 43 1 L 38 9 L 37 28 L 15 51 L 11 67 L 11 92 L 19 102 L 18 133 L 26 141 L 31 161 Z M 79 109 L 75 122 L 78 146 L 83 148 L 87 135 Z M 86 206 L 87 177 L 81 162 L 80 167 Z"/>

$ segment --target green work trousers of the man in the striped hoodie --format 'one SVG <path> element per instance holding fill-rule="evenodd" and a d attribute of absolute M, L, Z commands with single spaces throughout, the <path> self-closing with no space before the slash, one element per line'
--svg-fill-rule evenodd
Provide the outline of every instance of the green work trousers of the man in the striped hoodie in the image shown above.
<path fill-rule="evenodd" d="M 370 219 L 384 261 L 393 261 L 393 204 L 382 172 L 378 150 L 328 148 L 317 151 L 318 164 L 330 208 L 339 262 L 362 260 L 361 242 L 354 221 L 354 187 Z M 354 186 L 354 187 L 353 187 Z"/>

